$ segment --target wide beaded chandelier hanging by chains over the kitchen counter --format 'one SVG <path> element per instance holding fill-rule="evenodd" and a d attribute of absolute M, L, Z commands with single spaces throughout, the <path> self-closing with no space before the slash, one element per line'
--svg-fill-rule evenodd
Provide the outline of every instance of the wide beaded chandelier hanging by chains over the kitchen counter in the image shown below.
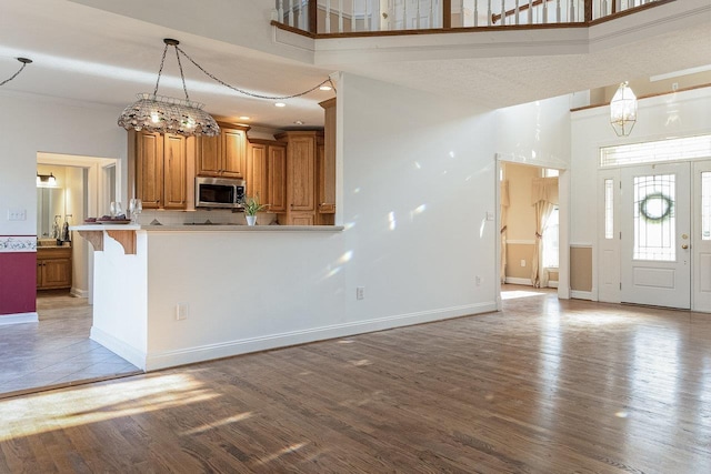
<path fill-rule="evenodd" d="M 186 77 L 183 75 L 180 54 L 178 53 L 178 44 L 180 44 L 180 41 L 166 38 L 163 42 L 166 43 L 166 48 L 163 49 L 163 57 L 160 61 L 158 80 L 156 81 L 153 93 L 138 94 L 138 101 L 128 105 L 123 109 L 123 112 L 121 112 L 118 121 L 119 127 L 123 127 L 126 130 L 177 133 L 186 137 L 216 137 L 220 134 L 220 128 L 214 119 L 202 110 L 204 104 L 193 102 L 188 97 Z M 160 83 L 160 75 L 163 71 L 166 53 L 169 47 L 176 49 L 182 89 L 186 93 L 184 100 L 158 95 L 158 84 Z"/>

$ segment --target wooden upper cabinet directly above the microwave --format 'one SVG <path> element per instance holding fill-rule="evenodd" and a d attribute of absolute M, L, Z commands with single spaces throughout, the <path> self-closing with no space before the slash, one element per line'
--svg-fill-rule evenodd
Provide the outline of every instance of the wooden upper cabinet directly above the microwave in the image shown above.
<path fill-rule="evenodd" d="M 247 131 L 249 127 L 220 123 L 218 137 L 196 138 L 196 174 L 240 178 L 247 175 Z"/>

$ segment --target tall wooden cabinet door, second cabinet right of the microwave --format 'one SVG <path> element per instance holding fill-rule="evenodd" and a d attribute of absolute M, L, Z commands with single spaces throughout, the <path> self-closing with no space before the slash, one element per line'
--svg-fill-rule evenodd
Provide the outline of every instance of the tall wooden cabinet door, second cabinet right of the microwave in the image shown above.
<path fill-rule="evenodd" d="M 313 137 L 293 137 L 287 149 L 287 192 L 291 211 L 316 209 L 316 140 Z"/>

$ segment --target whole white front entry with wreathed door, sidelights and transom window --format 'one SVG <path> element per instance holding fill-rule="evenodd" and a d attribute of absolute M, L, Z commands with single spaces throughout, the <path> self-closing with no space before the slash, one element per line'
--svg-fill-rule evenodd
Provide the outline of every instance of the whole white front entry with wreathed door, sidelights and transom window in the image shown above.
<path fill-rule="evenodd" d="M 600 301 L 711 312 L 710 154 L 711 135 L 601 149 Z"/>

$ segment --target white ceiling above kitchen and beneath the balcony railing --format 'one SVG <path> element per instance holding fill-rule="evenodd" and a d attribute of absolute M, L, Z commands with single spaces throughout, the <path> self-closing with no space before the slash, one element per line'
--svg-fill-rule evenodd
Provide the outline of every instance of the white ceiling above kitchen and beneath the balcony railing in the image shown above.
<path fill-rule="evenodd" d="M 0 93 L 109 104 L 118 115 L 136 93 L 153 91 L 162 38 L 179 39 L 209 72 L 254 93 L 289 95 L 347 71 L 491 109 L 711 64 L 708 0 L 680 0 L 593 29 L 317 41 L 272 31 L 272 4 L 0 0 L 0 80 L 19 68 L 16 57 L 34 61 Z M 220 18 L 216 6 L 240 8 L 243 14 Z M 677 17 L 663 18 L 672 13 Z M 249 115 L 246 122 L 252 124 L 320 125 L 318 102 L 333 97 L 314 91 L 278 109 L 274 101 L 218 84 L 184 58 L 182 67 L 190 99 L 204 102 L 214 115 L 238 121 Z M 183 97 L 179 78 L 170 51 L 159 93 Z"/>

